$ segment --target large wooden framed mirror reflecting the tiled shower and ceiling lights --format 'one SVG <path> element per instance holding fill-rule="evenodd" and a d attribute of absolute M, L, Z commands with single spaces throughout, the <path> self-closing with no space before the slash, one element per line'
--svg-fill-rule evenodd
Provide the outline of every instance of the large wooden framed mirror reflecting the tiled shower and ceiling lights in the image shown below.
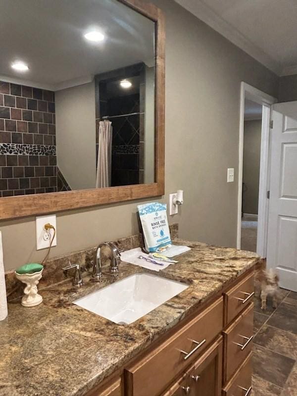
<path fill-rule="evenodd" d="M 15 1 L 0 5 L 0 219 L 163 195 L 161 10 Z"/>

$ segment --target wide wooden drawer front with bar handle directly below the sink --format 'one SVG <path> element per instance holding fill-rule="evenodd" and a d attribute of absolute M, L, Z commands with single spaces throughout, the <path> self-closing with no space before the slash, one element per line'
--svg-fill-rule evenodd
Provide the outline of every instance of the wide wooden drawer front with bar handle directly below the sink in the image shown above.
<path fill-rule="evenodd" d="M 125 369 L 128 396 L 157 396 L 222 331 L 223 298 Z"/>

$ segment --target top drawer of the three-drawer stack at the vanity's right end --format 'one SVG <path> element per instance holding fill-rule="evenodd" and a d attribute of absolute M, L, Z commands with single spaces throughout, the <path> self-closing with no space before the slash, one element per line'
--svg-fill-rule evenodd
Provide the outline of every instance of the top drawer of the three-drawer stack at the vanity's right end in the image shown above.
<path fill-rule="evenodd" d="M 224 293 L 226 307 L 226 323 L 228 325 L 247 305 L 254 295 L 254 274 L 251 273 L 238 285 Z"/>

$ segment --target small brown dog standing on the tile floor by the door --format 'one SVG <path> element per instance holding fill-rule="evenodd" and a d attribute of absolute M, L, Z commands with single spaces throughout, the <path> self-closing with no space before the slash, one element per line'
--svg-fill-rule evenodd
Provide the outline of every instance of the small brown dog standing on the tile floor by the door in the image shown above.
<path fill-rule="evenodd" d="M 279 296 L 279 276 L 272 270 L 266 270 L 266 261 L 262 259 L 255 272 L 255 296 L 261 297 L 261 309 L 266 309 L 267 297 L 272 296 L 272 307 L 277 307 Z"/>

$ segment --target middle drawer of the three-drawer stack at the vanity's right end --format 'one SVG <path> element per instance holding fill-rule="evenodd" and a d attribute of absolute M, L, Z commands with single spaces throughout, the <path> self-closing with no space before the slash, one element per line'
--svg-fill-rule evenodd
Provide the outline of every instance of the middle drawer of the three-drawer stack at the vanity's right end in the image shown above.
<path fill-rule="evenodd" d="M 253 303 L 223 332 L 225 339 L 225 381 L 240 367 L 252 348 Z"/>

